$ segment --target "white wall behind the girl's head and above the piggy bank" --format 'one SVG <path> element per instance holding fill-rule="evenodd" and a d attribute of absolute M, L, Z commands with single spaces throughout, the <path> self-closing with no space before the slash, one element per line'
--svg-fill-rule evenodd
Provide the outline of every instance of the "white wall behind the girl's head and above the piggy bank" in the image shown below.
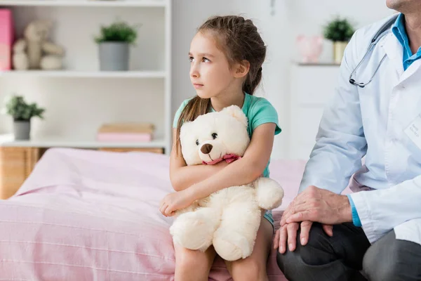
<path fill-rule="evenodd" d="M 211 2 L 211 3 L 210 3 Z M 392 14 L 385 0 L 271 0 L 206 1 L 177 0 L 173 15 L 173 112 L 189 96 L 194 95 L 189 83 L 187 53 L 195 28 L 214 14 L 242 14 L 252 18 L 267 44 L 267 61 L 263 68 L 262 87 L 259 96 L 265 96 L 279 113 L 283 133 L 275 138 L 272 157 L 284 158 L 288 153 L 288 125 L 290 102 L 290 67 L 298 58 L 295 37 L 298 34 L 320 34 L 323 25 L 335 15 L 346 16 L 356 27 L 369 24 Z M 229 3 L 227 5 L 227 3 Z M 331 44 L 325 41 L 321 60 L 332 56 Z M 333 77 L 334 79 L 334 77 Z"/>

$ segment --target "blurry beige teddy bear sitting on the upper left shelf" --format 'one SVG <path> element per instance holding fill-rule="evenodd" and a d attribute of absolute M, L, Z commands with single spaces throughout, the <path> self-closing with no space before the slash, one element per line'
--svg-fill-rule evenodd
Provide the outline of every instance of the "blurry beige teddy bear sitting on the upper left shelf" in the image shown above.
<path fill-rule="evenodd" d="M 60 70 L 64 48 L 48 41 L 53 23 L 35 20 L 25 28 L 22 39 L 13 45 L 15 70 Z"/>

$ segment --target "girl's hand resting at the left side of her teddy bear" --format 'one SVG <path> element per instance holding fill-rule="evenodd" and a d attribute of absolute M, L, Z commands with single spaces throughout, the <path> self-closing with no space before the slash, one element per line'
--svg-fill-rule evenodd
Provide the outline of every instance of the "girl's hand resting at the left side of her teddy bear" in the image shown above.
<path fill-rule="evenodd" d="M 164 216 L 174 216 L 175 211 L 189 207 L 194 200 L 192 188 L 173 192 L 163 197 L 159 211 Z"/>

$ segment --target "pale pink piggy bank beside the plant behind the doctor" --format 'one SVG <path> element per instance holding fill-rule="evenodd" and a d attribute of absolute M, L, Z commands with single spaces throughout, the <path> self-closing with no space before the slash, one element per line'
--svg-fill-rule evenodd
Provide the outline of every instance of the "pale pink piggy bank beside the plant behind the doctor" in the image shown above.
<path fill-rule="evenodd" d="M 296 39 L 302 63 L 318 63 L 323 50 L 323 37 L 299 35 Z"/>

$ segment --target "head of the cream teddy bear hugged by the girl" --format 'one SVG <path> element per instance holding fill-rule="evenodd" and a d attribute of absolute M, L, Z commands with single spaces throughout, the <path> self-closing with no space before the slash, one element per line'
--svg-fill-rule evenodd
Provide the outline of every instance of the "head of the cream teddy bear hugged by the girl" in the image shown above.
<path fill-rule="evenodd" d="M 242 157 L 250 143 L 247 124 L 246 115 L 236 105 L 185 122 L 180 129 L 180 143 L 186 164 L 213 162 L 225 155 Z"/>

